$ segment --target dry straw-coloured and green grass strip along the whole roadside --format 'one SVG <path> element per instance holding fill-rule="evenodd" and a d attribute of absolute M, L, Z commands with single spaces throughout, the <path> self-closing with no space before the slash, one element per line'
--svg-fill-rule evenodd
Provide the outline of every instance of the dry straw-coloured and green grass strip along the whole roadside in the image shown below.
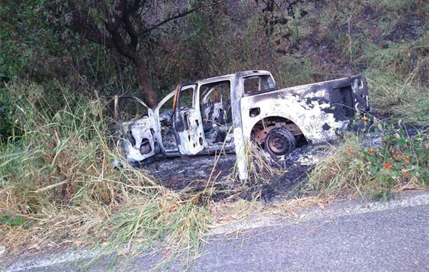
<path fill-rule="evenodd" d="M 63 97 L 64 108 L 52 111 L 40 95 L 31 96 L 31 101 L 22 99 L 40 86 L 13 84 L 9 88 L 17 98 L 21 96 L 14 116 L 16 134 L 0 147 L 0 235 L 10 253 L 62 245 L 101 245 L 109 253 L 131 248 L 134 242 L 147 247 L 159 240 L 171 252 L 187 250 L 189 259 L 209 226 L 251 220 L 254 214 L 299 218 L 302 209 L 314 204 L 323 207 L 345 192 L 410 188 L 420 186 L 424 178 L 421 172 L 410 170 L 414 172 L 406 180 L 391 183 L 392 177 L 385 175 L 391 172 L 379 167 L 382 175 L 374 179 L 368 174 L 366 157 L 359 155 L 367 150 L 357 138 L 350 138 L 333 147 L 333 156 L 313 172 L 310 183 L 320 192 L 318 196 L 269 205 L 243 199 L 213 204 L 211 196 L 218 182 L 214 167 L 219 157 L 203 190 L 174 192 L 144 171 L 129 167 L 118 154 L 117 139 L 107 136 L 109 121 L 102 99 Z M 246 150 L 254 184 L 242 184 L 230 198 L 287 171 L 258 147 L 249 145 Z M 396 154 L 398 160 L 407 156 Z M 113 160 L 123 167 L 114 169 Z M 254 191 L 253 199 L 258 199 L 260 194 Z"/>

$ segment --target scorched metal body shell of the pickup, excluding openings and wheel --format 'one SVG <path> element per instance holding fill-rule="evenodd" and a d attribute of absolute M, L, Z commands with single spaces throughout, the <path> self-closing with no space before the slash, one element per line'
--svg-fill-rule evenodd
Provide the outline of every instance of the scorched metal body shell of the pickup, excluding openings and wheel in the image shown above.
<path fill-rule="evenodd" d="M 247 93 L 244 82 L 246 78 L 255 77 L 260 78 L 258 90 Z M 265 78 L 269 88 L 262 88 L 262 77 Z M 220 139 L 223 141 L 207 142 L 206 137 L 209 136 L 203 127 L 203 118 L 212 109 L 206 109 L 202 105 L 204 101 L 200 101 L 201 87 L 226 81 L 230 83 L 231 128 L 222 128 L 223 134 L 219 134 L 222 124 L 216 124 L 218 136 L 221 135 Z M 182 108 L 181 92 L 191 88 L 190 86 L 193 91 L 192 106 Z M 160 108 L 173 95 L 171 123 L 177 150 L 167 150 L 161 134 Z M 132 96 L 116 97 L 115 115 L 118 117 L 120 112 L 117 111 L 117 99 L 120 98 L 134 98 L 146 106 L 140 99 Z M 223 106 L 222 110 L 225 114 Z M 304 138 L 310 144 L 329 141 L 336 138 L 338 132 L 345 130 L 356 114 L 368 110 L 367 84 L 362 76 L 278 89 L 270 72 L 246 71 L 180 84 L 153 110 L 148 108 L 148 118 L 123 122 L 122 128 L 125 142 L 128 141 L 128 144 L 125 144 L 128 147 L 125 152 L 130 161 L 141 161 L 159 152 L 166 156 L 190 156 L 223 150 L 236 153 L 240 179 L 246 180 L 248 179 L 246 146 L 250 141 L 255 140 L 263 146 L 266 135 L 276 132 L 280 133 L 280 138 L 281 135 L 285 137 L 289 135 L 289 138 Z M 278 127 L 290 132 L 279 130 Z M 231 130 L 232 133 L 225 132 Z M 130 133 L 135 140 L 131 143 L 130 137 L 127 136 Z M 279 137 L 270 139 L 277 141 Z M 295 139 L 292 140 L 289 145 L 295 144 Z M 147 152 L 149 150 L 147 143 L 150 152 L 136 154 L 136 150 Z M 138 147 L 143 144 L 146 148 Z"/>

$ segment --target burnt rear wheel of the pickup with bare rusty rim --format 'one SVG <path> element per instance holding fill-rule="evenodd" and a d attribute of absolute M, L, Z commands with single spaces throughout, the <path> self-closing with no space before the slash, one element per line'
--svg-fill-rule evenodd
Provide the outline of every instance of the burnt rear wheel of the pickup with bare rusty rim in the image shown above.
<path fill-rule="evenodd" d="M 264 150 L 272 157 L 288 155 L 295 146 L 295 136 L 283 126 L 271 129 L 264 141 Z"/>

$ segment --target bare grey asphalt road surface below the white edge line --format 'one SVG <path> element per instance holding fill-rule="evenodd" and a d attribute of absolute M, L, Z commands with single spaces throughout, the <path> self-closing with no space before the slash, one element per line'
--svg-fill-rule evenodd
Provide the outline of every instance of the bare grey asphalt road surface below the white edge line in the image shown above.
<path fill-rule="evenodd" d="M 253 230 L 214 240 L 195 271 L 429 271 L 429 205 Z"/>

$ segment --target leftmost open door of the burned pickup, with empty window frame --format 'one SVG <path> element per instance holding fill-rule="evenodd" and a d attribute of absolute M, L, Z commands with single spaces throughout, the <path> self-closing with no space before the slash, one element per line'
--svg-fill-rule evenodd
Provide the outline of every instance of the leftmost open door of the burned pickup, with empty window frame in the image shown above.
<path fill-rule="evenodd" d="M 137 101 L 147 109 L 147 116 L 123 121 L 119 107 L 120 99 L 133 99 Z M 132 95 L 115 96 L 115 118 L 122 132 L 122 148 L 125 151 L 128 161 L 143 161 L 159 152 L 159 144 L 156 138 L 158 129 L 153 110 L 142 100 Z"/>

